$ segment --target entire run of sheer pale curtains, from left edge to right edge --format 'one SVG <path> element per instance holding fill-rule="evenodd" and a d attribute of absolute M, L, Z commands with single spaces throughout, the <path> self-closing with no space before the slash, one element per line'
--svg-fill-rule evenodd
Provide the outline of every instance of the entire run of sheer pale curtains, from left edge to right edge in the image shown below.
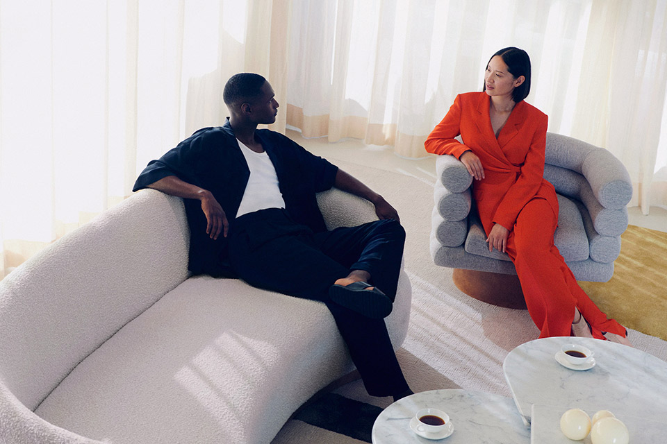
<path fill-rule="evenodd" d="M 526 49 L 550 130 L 667 205 L 667 0 L 0 0 L 0 277 L 131 194 L 149 160 L 266 76 L 306 137 L 424 155 L 459 92 Z"/>

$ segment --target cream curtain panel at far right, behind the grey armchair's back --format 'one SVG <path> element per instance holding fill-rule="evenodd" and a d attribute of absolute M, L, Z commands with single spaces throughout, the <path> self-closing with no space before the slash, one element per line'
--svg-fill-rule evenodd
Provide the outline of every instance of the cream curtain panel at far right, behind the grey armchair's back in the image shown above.
<path fill-rule="evenodd" d="M 665 167 L 657 159 L 667 137 L 667 2 L 594 0 L 584 60 L 573 136 L 625 164 L 634 185 L 629 205 L 644 214 L 667 205 L 665 179 L 654 178 Z"/>

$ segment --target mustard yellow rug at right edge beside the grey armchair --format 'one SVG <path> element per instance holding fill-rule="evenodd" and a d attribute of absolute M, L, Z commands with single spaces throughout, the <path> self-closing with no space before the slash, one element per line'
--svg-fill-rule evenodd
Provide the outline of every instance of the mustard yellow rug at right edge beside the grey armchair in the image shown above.
<path fill-rule="evenodd" d="M 614 277 L 579 285 L 607 316 L 667 341 L 667 233 L 629 225 Z"/>

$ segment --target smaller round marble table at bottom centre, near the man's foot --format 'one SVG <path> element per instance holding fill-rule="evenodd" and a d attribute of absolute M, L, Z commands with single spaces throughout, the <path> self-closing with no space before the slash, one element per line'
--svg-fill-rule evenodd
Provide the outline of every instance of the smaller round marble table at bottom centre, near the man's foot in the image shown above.
<path fill-rule="evenodd" d="M 454 433 L 442 440 L 416 435 L 410 420 L 419 409 L 445 411 Z M 372 430 L 373 444 L 521 444 L 530 443 L 530 430 L 516 413 L 511 398 L 464 390 L 432 390 L 398 400 L 377 417 Z"/>

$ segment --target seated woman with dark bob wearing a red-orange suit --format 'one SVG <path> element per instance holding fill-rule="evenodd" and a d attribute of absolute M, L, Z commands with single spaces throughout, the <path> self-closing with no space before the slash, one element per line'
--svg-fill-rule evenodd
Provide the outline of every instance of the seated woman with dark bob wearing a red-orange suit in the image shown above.
<path fill-rule="evenodd" d="M 528 54 L 501 49 L 486 65 L 484 91 L 456 96 L 426 151 L 454 155 L 475 178 L 472 196 L 488 249 L 512 259 L 541 338 L 592 336 L 629 345 L 625 328 L 588 298 L 554 246 L 558 200 L 543 178 L 547 116 L 523 100 L 529 90 Z M 459 135 L 463 144 L 454 139 Z"/>

